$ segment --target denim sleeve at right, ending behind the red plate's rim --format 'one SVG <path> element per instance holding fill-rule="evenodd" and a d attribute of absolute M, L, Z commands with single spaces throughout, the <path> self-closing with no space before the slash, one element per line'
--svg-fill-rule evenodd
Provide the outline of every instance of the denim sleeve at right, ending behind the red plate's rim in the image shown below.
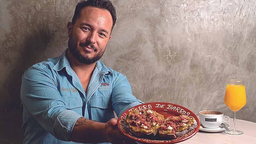
<path fill-rule="evenodd" d="M 112 107 L 118 117 L 127 109 L 143 104 L 141 100 L 132 95 L 131 85 L 124 75 L 113 86 L 112 103 Z"/>

